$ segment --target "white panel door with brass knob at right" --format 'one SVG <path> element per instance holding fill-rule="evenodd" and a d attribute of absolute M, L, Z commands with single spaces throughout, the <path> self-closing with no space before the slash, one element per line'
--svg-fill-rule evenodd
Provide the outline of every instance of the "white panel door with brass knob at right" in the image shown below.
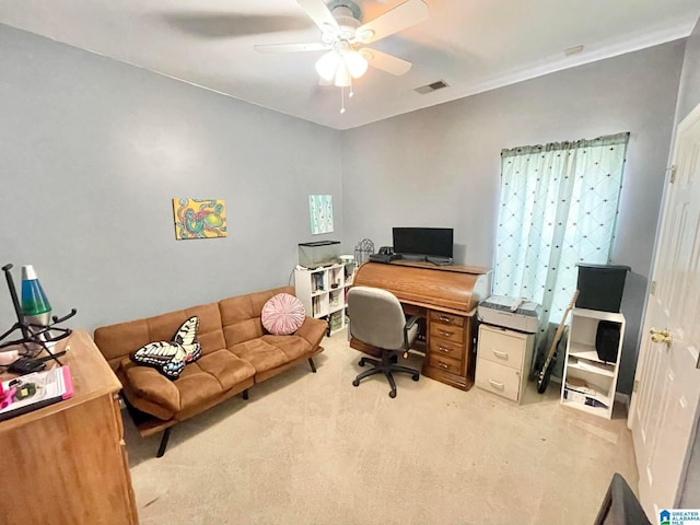
<path fill-rule="evenodd" d="M 629 425 L 640 501 L 656 523 L 678 504 L 700 400 L 700 106 L 678 126 Z M 652 328 L 667 329 L 653 337 Z M 654 342 L 656 339 L 661 342 Z"/>

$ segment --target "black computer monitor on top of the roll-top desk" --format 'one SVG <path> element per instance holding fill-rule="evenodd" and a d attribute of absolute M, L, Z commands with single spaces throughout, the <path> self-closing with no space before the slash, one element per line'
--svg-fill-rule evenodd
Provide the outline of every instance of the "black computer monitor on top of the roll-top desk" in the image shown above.
<path fill-rule="evenodd" d="M 394 228 L 394 252 L 405 259 L 452 262 L 452 228 Z"/>

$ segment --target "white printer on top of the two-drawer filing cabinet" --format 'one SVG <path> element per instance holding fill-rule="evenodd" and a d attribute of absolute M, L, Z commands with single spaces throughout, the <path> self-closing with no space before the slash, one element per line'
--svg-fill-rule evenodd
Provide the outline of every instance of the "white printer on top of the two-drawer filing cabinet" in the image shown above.
<path fill-rule="evenodd" d="M 523 298 L 491 295 L 479 303 L 477 316 L 481 323 L 535 334 L 542 307 Z"/>

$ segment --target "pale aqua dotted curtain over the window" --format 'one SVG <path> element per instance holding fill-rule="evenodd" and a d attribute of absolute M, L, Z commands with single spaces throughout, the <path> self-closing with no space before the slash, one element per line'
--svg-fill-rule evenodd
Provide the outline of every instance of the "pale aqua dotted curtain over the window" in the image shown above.
<path fill-rule="evenodd" d="M 541 331 L 576 289 L 576 262 L 608 264 L 629 133 L 501 152 L 494 293 L 542 305 Z"/>

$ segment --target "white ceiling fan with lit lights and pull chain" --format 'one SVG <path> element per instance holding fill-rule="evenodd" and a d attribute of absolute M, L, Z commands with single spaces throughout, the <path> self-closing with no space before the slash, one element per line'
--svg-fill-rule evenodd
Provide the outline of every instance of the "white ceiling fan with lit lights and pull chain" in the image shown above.
<path fill-rule="evenodd" d="M 368 66 L 400 75 L 411 68 L 411 62 L 386 52 L 364 47 L 393 35 L 428 16 L 423 0 L 406 0 L 394 9 L 371 20 L 360 22 L 362 11 L 352 0 L 296 0 L 320 28 L 322 42 L 305 44 L 256 45 L 259 52 L 296 52 L 326 50 L 316 62 L 322 80 L 340 88 L 351 88 L 352 79 L 359 79 Z M 352 96 L 352 92 L 350 92 Z M 341 109 L 341 113 L 343 113 Z"/>

